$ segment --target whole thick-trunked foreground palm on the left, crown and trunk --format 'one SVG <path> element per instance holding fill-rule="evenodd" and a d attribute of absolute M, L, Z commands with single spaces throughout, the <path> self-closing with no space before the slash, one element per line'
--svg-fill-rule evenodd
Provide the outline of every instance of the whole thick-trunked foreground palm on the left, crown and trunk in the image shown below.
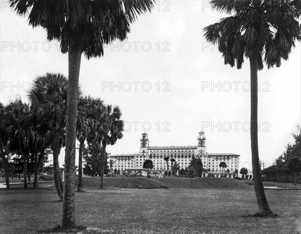
<path fill-rule="evenodd" d="M 44 1 L 10 0 L 11 7 L 21 15 L 29 13 L 29 24 L 42 26 L 48 40 L 61 42 L 61 52 L 68 53 L 69 84 L 66 125 L 65 183 L 62 227 L 75 226 L 75 142 L 78 83 L 81 54 L 87 59 L 103 55 L 103 45 L 125 40 L 129 25 L 144 12 L 150 11 L 154 0 L 119 1 Z"/>

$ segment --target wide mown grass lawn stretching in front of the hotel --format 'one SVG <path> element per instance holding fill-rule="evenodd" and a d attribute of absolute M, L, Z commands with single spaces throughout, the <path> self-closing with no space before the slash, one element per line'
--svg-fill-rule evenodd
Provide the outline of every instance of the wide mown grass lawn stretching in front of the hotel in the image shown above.
<path fill-rule="evenodd" d="M 300 191 L 266 190 L 270 208 L 280 217 L 257 218 L 248 216 L 258 211 L 253 187 L 220 179 L 156 180 L 170 189 L 90 187 L 75 193 L 76 222 L 87 227 L 80 233 L 301 233 Z M 56 191 L 47 185 L 0 189 L 0 210 L 0 233 L 49 232 L 62 215 Z"/>

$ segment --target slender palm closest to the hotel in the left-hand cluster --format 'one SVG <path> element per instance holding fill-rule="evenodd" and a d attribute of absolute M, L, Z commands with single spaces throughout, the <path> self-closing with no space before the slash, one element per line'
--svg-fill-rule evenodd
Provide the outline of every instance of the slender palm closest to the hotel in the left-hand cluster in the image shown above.
<path fill-rule="evenodd" d="M 106 146 L 114 145 L 118 139 L 123 137 L 123 120 L 121 118 L 121 111 L 118 106 L 112 107 L 112 105 L 106 105 L 105 118 L 106 126 L 103 128 L 102 132 L 99 133 L 99 140 L 101 139 L 102 144 L 102 161 L 101 161 L 101 181 L 100 188 L 103 188 L 103 174 L 104 174 L 104 165 L 105 155 L 106 155 Z"/>

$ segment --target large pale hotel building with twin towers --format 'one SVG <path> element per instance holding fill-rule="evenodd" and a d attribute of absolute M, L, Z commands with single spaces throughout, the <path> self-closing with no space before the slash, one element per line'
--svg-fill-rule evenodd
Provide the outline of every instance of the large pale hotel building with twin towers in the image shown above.
<path fill-rule="evenodd" d="M 141 170 L 143 175 L 146 175 L 146 170 L 142 168 L 143 162 L 146 159 L 152 159 L 154 169 L 149 171 L 151 176 L 163 176 L 165 171 L 167 171 L 166 161 L 164 161 L 165 157 L 176 159 L 181 169 L 188 167 L 193 157 L 200 158 L 202 159 L 204 169 L 208 170 L 202 176 L 213 174 L 216 177 L 221 176 L 222 168 L 219 167 L 219 164 L 224 161 L 227 164 L 224 172 L 229 169 L 230 173 L 226 173 L 227 176 L 234 177 L 234 170 L 238 169 L 239 156 L 233 153 L 208 153 L 205 132 L 199 132 L 197 145 L 193 146 L 149 146 L 147 133 L 142 133 L 139 153 L 115 154 L 109 156 L 109 159 L 114 161 L 112 170 L 119 169 L 120 171 L 130 171 L 131 173 Z M 171 165 L 170 161 L 169 165 Z"/>

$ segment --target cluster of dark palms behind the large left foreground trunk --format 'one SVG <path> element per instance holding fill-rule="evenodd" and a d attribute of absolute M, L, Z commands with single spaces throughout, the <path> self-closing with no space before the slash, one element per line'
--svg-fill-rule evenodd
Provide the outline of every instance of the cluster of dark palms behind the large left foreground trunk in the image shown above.
<path fill-rule="evenodd" d="M 33 187 L 37 188 L 39 172 L 52 153 L 54 182 L 63 200 L 58 159 L 66 147 L 67 84 L 68 78 L 62 74 L 47 73 L 34 79 L 27 93 L 29 103 L 20 98 L 7 105 L 0 103 L 0 154 L 7 188 L 10 188 L 12 165 L 17 172 L 23 172 L 24 188 L 34 173 Z M 91 174 L 94 170 L 96 175 L 97 169 L 97 175 L 101 176 L 100 188 L 103 188 L 106 146 L 122 138 L 123 121 L 118 106 L 106 105 L 100 98 L 83 96 L 80 88 L 79 91 L 76 138 L 79 142 L 78 191 L 82 191 L 83 157 L 85 172 Z M 11 158 L 14 162 L 10 162 Z"/>

